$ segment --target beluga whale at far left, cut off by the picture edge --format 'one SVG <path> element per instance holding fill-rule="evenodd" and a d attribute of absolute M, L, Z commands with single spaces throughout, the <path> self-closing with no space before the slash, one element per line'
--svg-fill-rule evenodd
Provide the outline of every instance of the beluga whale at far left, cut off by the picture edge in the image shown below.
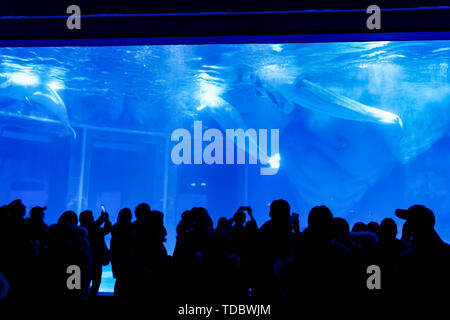
<path fill-rule="evenodd" d="M 0 100 L 23 102 L 32 107 L 42 108 L 64 126 L 62 134 L 74 139 L 77 135 L 70 124 L 66 105 L 52 85 L 42 83 L 39 78 L 28 72 L 0 74 Z"/>

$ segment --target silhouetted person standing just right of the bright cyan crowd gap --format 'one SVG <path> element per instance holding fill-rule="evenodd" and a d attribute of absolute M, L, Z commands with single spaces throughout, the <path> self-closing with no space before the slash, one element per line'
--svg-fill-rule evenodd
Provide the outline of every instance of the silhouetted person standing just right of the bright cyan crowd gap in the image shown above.
<path fill-rule="evenodd" d="M 111 267 L 113 277 L 116 279 L 114 295 L 120 295 L 122 273 L 130 255 L 133 226 L 131 223 L 131 210 L 124 208 L 119 211 L 117 223 L 111 228 Z"/>

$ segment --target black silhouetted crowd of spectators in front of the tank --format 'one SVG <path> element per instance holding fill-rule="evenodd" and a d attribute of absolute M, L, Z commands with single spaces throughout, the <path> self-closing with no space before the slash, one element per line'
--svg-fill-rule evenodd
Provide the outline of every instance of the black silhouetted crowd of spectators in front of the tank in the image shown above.
<path fill-rule="evenodd" d="M 62 213 L 44 222 L 45 207 L 25 218 L 21 200 L 0 207 L 0 300 L 98 299 L 102 267 L 111 262 L 115 299 L 134 303 L 269 302 L 432 295 L 450 288 L 450 246 L 435 231 L 433 212 L 421 205 L 397 209 L 405 222 L 348 222 L 316 206 L 300 231 L 289 203 L 275 200 L 258 226 L 240 207 L 214 227 L 205 208 L 181 215 L 173 255 L 166 251 L 164 214 L 148 204 L 124 208 L 112 225 L 107 212 Z M 394 215 L 394 213 L 392 213 Z M 111 232 L 108 248 L 105 235 Z M 81 270 L 81 287 L 69 288 L 67 267 Z M 369 266 L 381 286 L 369 288 Z M 351 301 L 351 300 L 350 300 Z"/>

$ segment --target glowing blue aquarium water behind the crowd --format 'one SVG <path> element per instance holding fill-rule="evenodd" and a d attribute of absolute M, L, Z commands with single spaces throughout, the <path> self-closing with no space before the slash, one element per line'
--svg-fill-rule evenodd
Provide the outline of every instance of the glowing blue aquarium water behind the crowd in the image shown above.
<path fill-rule="evenodd" d="M 262 224 L 285 198 L 305 227 L 317 204 L 353 224 L 420 203 L 450 241 L 449 62 L 450 41 L 0 48 L 0 202 L 46 205 L 47 223 L 148 202 L 169 252 L 193 206 Z M 278 129 L 275 160 L 176 165 L 171 135 L 194 149 L 194 121 Z"/>

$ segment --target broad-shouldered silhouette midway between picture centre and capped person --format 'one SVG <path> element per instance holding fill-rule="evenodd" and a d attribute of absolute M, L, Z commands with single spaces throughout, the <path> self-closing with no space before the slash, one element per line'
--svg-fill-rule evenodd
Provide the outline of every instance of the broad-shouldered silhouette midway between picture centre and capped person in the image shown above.
<path fill-rule="evenodd" d="M 355 292 L 357 269 L 351 253 L 332 237 L 331 211 L 326 206 L 312 208 L 293 256 L 276 267 L 283 299 L 292 308 L 295 301 L 347 298 Z"/>

